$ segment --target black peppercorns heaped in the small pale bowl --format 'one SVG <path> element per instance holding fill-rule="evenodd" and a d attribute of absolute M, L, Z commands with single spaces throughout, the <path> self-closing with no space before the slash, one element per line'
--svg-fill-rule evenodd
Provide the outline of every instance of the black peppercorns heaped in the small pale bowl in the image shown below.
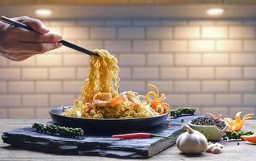
<path fill-rule="evenodd" d="M 199 126 L 217 126 L 220 130 L 224 129 L 226 124 L 220 119 L 215 119 L 209 116 L 203 116 L 191 120 L 191 124 Z"/>

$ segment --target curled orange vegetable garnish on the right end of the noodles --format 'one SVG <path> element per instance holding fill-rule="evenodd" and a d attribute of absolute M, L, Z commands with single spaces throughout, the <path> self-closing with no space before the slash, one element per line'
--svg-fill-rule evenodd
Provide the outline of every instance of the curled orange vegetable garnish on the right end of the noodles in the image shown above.
<path fill-rule="evenodd" d="M 149 101 L 152 108 L 159 114 L 165 114 L 170 112 L 170 105 L 166 102 L 166 95 L 162 93 L 160 95 L 159 90 L 156 85 L 149 84 L 149 87 L 153 88 L 155 91 L 149 91 L 146 95 L 146 101 Z"/>

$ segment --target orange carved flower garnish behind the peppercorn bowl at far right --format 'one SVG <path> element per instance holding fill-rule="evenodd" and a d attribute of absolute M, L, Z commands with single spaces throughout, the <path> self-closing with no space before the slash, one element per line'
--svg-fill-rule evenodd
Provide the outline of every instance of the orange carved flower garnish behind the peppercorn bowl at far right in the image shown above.
<path fill-rule="evenodd" d="M 242 126 L 244 125 L 244 122 L 252 118 L 252 116 L 254 116 L 254 114 L 252 113 L 246 114 L 241 119 L 240 115 L 241 115 L 241 111 L 236 114 L 235 120 L 233 120 L 232 118 L 224 118 L 224 121 L 229 123 L 229 130 L 233 130 L 233 131 L 241 130 Z"/>

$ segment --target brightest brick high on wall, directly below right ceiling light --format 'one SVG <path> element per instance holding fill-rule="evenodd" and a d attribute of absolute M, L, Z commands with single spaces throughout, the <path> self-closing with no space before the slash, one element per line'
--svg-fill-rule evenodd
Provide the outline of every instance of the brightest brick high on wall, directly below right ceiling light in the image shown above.
<path fill-rule="evenodd" d="M 202 38 L 221 39 L 228 37 L 228 27 L 202 27 Z"/>

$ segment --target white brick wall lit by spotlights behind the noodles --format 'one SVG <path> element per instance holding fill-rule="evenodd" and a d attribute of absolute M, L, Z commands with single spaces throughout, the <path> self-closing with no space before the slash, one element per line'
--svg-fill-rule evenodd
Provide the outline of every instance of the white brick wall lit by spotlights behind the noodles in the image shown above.
<path fill-rule="evenodd" d="M 254 19 L 48 20 L 52 32 L 120 65 L 120 92 L 145 94 L 155 84 L 173 108 L 233 117 L 256 112 Z M 61 47 L 22 62 L 0 57 L 0 118 L 48 118 L 53 106 L 73 105 L 90 57 Z"/>

